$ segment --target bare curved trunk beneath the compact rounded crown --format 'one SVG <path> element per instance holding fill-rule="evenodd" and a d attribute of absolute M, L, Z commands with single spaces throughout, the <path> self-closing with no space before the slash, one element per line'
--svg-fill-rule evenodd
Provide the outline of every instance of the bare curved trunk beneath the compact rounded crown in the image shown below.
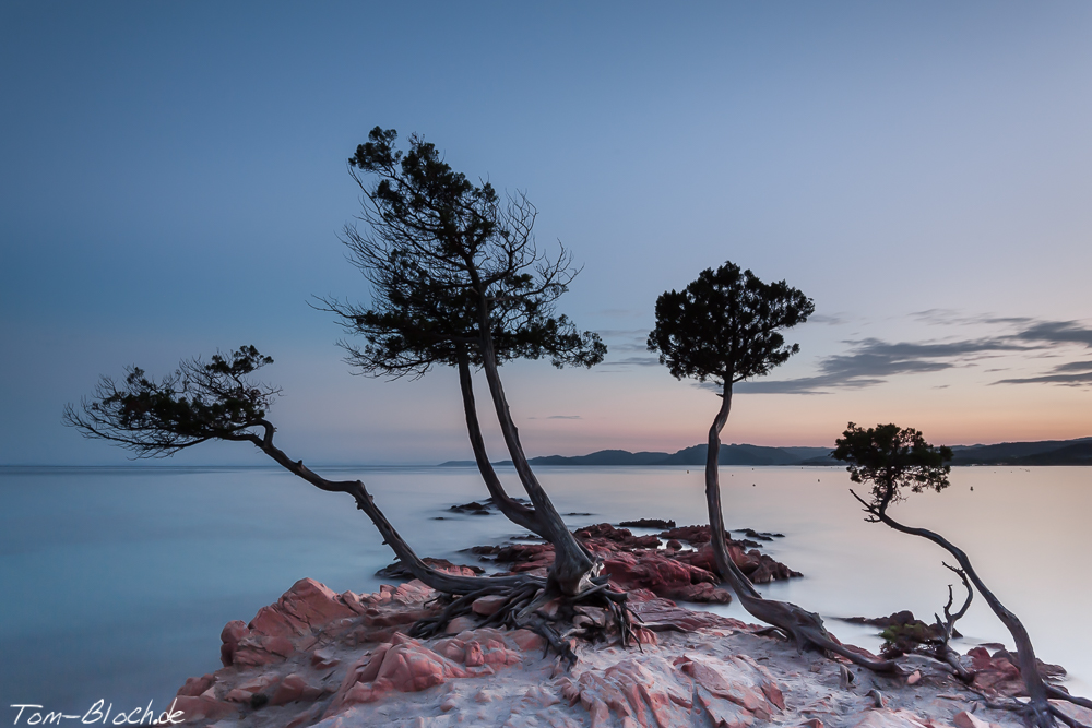
<path fill-rule="evenodd" d="M 709 428 L 709 450 L 705 453 L 705 502 L 709 505 L 709 536 L 713 547 L 713 558 L 722 578 L 728 584 L 739 604 L 756 619 L 772 624 L 796 643 L 798 649 L 814 647 L 836 653 L 853 660 L 862 667 L 878 672 L 897 672 L 898 666 L 892 660 L 871 660 L 863 655 L 846 649 L 831 640 L 822 619 L 815 612 L 807 611 L 787 601 L 763 599 L 750 580 L 744 575 L 728 552 L 724 538 L 724 515 L 721 510 L 720 455 L 721 430 L 732 411 L 732 382 L 724 383 L 721 398 L 721 409 Z"/>

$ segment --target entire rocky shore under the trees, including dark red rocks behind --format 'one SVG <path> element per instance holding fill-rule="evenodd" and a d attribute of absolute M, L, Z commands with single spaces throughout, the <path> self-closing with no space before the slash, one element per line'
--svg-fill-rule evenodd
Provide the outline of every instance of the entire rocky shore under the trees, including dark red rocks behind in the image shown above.
<path fill-rule="evenodd" d="M 451 510 L 487 508 L 473 502 Z M 577 657 L 569 665 L 548 653 L 534 632 L 482 626 L 499 606 L 490 596 L 452 619 L 443 634 L 412 639 L 410 628 L 439 613 L 442 600 L 392 564 L 381 573 L 402 581 L 397 586 L 335 594 L 304 578 L 250 622 L 229 622 L 221 634 L 224 667 L 188 679 L 174 705 L 187 724 L 218 728 L 1023 725 L 1016 714 L 988 707 L 990 699 L 1012 699 L 1023 691 L 1001 645 L 995 645 L 993 655 L 980 646 L 960 658 L 975 673 L 971 685 L 948 666 L 916 654 L 899 658 L 902 673 L 878 675 L 836 656 L 799 653 L 769 628 L 695 611 L 669 598 L 710 605 L 731 599 L 704 577 L 719 580 L 698 565 L 709 556 L 701 547 L 708 526 L 702 532 L 701 526 L 677 528 L 645 520 L 627 525 L 665 530 L 634 536 L 603 523 L 575 533 L 603 560 L 613 587 L 629 595 L 636 644 L 621 645 L 603 610 L 580 607 L 577 619 L 606 626 L 592 631 L 593 642 L 568 640 Z M 780 536 L 739 530 L 763 541 Z M 670 539 L 666 545 L 665 538 Z M 733 559 L 748 563 L 756 575 L 799 576 L 757 549 L 746 551 L 750 546 L 760 544 L 735 541 Z M 503 563 L 511 573 L 538 575 L 553 557 L 548 545 L 521 541 L 467 551 Z M 480 571 L 443 560 L 432 560 L 432 565 L 464 575 Z M 1057 666 L 1041 669 L 1059 677 Z M 1092 711 L 1065 709 L 1092 723 Z"/>

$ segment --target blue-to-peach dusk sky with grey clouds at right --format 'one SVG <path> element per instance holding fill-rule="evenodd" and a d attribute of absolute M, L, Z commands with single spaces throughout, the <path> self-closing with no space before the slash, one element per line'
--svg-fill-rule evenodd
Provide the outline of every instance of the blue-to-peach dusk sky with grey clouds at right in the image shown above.
<path fill-rule="evenodd" d="M 644 341 L 725 261 L 816 313 L 724 442 L 1092 435 L 1089 37 L 1087 2 L 5 0 L 0 464 L 123 463 L 66 403 L 242 344 L 276 360 L 290 456 L 470 458 L 454 372 L 354 377 L 309 306 L 369 300 L 340 234 L 375 126 L 525 192 L 583 266 L 560 309 L 606 362 L 502 368 L 532 456 L 704 440 L 719 399 Z"/>

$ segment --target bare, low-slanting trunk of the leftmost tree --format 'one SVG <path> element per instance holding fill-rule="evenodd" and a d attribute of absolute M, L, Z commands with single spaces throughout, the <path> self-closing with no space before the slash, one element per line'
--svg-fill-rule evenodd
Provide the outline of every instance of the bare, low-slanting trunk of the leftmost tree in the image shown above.
<path fill-rule="evenodd" d="M 240 440 L 252 442 L 259 447 L 259 450 L 273 458 L 283 468 L 302 478 L 316 488 L 329 492 L 341 492 L 352 496 L 353 499 L 356 500 L 356 506 L 364 511 L 369 518 L 371 518 L 371 522 L 382 535 L 383 542 L 391 547 L 391 550 L 394 551 L 399 561 L 401 561 L 402 564 L 408 569 L 416 578 L 419 578 L 434 589 L 449 594 L 470 594 L 472 592 L 482 592 L 483 589 L 496 589 L 500 592 L 513 586 L 521 586 L 530 583 L 525 576 L 498 576 L 491 578 L 484 576 L 456 576 L 454 574 L 432 569 L 427 563 L 422 561 L 420 557 L 414 552 L 405 539 L 402 538 L 401 534 L 399 534 L 394 526 L 391 525 L 391 522 L 387 520 L 383 512 L 376 505 L 375 498 L 368 492 L 364 482 L 360 480 L 327 480 L 304 465 L 304 461 L 290 460 L 284 451 L 273 444 L 273 426 L 266 423 L 264 427 L 264 438 L 251 434 L 242 437 Z"/>

